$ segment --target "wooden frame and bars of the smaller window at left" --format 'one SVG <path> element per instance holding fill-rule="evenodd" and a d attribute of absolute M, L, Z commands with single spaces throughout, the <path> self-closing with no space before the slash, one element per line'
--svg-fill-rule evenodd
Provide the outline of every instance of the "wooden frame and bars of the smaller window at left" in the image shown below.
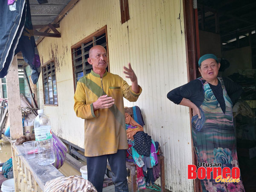
<path fill-rule="evenodd" d="M 54 89 L 53 89 L 53 82 L 52 82 L 52 99 L 53 99 L 53 104 L 49 104 L 49 103 L 45 103 L 45 91 L 44 91 L 44 67 L 47 67 L 47 65 L 49 65 L 51 62 L 54 63 L 54 71 L 55 71 L 55 81 L 56 81 L 56 96 L 57 96 L 57 104 L 54 104 Z M 56 79 L 56 67 L 55 67 L 55 58 L 51 58 L 49 61 L 47 61 L 46 63 L 44 63 L 41 66 L 41 73 L 42 73 L 42 84 L 43 84 L 43 93 L 44 93 L 44 105 L 46 106 L 58 106 L 58 88 L 57 88 L 57 79 Z M 51 70 L 51 74 L 52 74 L 52 70 Z M 47 87 L 48 87 L 48 102 L 49 100 L 49 84 L 47 82 Z"/>

